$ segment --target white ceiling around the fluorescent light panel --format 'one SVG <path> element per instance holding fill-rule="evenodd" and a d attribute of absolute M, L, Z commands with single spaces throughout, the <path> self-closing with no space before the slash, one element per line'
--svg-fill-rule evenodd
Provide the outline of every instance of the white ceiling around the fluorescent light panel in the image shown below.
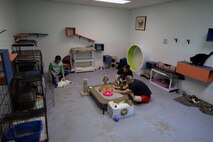
<path fill-rule="evenodd" d="M 112 8 L 135 9 L 144 6 L 156 5 L 176 0 L 130 0 L 131 2 L 126 4 L 110 4 L 105 2 L 97 2 L 93 0 L 46 0 L 46 1 L 66 2 L 66 3 L 112 7 Z"/>

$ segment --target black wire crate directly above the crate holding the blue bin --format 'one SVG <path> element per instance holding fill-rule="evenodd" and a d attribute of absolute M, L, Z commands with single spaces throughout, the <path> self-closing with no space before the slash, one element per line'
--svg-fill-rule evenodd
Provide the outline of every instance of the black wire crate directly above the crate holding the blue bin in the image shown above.
<path fill-rule="evenodd" d="M 41 80 L 13 80 L 11 96 L 14 111 L 45 107 L 44 85 Z"/>

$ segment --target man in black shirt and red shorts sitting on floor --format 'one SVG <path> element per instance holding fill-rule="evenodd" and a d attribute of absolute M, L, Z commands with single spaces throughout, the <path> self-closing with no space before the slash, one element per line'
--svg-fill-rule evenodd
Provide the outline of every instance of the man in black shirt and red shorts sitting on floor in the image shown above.
<path fill-rule="evenodd" d="M 114 90 L 117 93 L 126 93 L 130 95 L 135 103 L 148 103 L 151 99 L 151 90 L 141 80 L 133 79 L 132 76 L 126 77 L 128 89 L 124 91 Z"/>

